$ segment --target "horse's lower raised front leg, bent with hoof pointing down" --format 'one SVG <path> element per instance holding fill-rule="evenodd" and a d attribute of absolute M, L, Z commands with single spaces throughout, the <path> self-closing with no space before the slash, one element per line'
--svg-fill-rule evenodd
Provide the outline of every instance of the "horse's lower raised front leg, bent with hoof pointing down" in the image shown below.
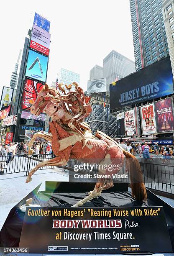
<path fill-rule="evenodd" d="M 49 159 L 47 161 L 43 161 L 43 162 L 40 162 L 39 164 L 36 165 L 36 167 L 34 167 L 28 174 L 28 177 L 26 179 L 26 183 L 28 182 L 31 182 L 32 181 L 32 178 L 31 176 L 42 166 L 59 166 L 59 165 L 66 165 L 67 164 L 67 161 L 63 161 L 61 156 L 56 156 L 55 158 L 53 159 Z"/>

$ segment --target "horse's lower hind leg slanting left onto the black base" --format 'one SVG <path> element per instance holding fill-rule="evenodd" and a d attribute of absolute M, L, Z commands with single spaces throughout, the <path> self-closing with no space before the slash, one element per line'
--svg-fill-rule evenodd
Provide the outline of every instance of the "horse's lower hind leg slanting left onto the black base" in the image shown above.
<path fill-rule="evenodd" d="M 90 195 L 88 195 L 84 199 L 80 200 L 79 202 L 77 202 L 72 207 L 82 206 L 82 205 L 84 205 L 85 202 L 90 201 L 91 199 L 100 196 L 104 186 L 105 186 L 105 179 L 104 178 L 103 179 L 98 179 L 97 183 L 95 184 L 95 188 L 92 192 L 90 192 Z"/>

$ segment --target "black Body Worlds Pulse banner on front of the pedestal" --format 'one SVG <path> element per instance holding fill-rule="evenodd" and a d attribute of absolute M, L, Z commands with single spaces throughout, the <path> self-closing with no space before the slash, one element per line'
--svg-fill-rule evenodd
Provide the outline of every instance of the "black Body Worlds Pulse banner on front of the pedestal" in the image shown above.
<path fill-rule="evenodd" d="M 163 207 L 27 207 L 19 247 L 75 255 L 172 252 Z"/>

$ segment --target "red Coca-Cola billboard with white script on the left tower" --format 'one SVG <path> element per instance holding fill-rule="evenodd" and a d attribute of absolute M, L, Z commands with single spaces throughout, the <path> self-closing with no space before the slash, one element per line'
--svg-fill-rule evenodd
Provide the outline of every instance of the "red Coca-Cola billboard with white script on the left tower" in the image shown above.
<path fill-rule="evenodd" d="M 39 83 L 31 79 L 26 79 L 23 85 L 21 109 L 29 110 L 31 105 L 35 102 L 38 93 L 42 90 L 43 87 L 43 83 Z"/>

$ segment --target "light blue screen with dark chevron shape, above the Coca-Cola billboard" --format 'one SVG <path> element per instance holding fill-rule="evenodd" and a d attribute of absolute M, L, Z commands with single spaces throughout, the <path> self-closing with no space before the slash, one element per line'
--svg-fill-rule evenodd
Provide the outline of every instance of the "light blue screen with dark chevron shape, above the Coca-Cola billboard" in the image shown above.
<path fill-rule="evenodd" d="M 48 58 L 36 51 L 29 50 L 26 77 L 46 82 Z"/>

